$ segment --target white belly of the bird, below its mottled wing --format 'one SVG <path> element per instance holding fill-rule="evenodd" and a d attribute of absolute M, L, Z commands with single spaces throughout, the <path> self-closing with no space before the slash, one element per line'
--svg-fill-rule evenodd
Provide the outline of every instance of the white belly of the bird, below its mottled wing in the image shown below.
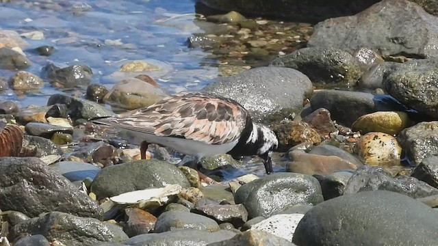
<path fill-rule="evenodd" d="M 118 135 L 123 139 L 127 139 L 132 144 L 140 145 L 142 141 L 146 141 L 148 143 L 157 143 L 159 145 L 172 148 L 181 154 L 188 154 L 198 157 L 224 154 L 232 150 L 237 144 L 237 140 L 231 143 L 218 145 L 178 137 L 158 137 L 153 134 L 138 133 L 124 129 L 118 130 Z"/>

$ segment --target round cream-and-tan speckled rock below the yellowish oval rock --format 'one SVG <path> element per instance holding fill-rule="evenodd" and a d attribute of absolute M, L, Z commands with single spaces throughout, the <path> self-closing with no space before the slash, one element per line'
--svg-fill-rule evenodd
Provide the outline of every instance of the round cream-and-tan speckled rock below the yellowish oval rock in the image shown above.
<path fill-rule="evenodd" d="M 400 165 L 402 148 L 395 137 L 386 133 L 367 133 L 355 146 L 359 159 L 368 165 L 393 166 Z"/>

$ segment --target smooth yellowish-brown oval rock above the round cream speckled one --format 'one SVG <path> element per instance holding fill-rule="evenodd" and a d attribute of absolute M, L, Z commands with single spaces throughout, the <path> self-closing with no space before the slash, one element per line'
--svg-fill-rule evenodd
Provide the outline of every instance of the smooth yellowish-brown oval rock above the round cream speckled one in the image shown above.
<path fill-rule="evenodd" d="M 351 126 L 352 131 L 363 133 L 381 132 L 389 135 L 400 133 L 409 124 L 409 117 L 404 112 L 381 111 L 362 115 Z"/>

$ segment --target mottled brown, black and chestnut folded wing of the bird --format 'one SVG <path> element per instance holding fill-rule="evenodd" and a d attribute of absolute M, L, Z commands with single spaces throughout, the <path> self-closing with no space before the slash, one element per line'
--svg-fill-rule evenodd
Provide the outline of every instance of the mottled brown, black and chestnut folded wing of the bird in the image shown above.
<path fill-rule="evenodd" d="M 220 144 L 239 139 L 250 116 L 229 98 L 185 93 L 104 120 L 107 124 L 131 131 Z"/>

